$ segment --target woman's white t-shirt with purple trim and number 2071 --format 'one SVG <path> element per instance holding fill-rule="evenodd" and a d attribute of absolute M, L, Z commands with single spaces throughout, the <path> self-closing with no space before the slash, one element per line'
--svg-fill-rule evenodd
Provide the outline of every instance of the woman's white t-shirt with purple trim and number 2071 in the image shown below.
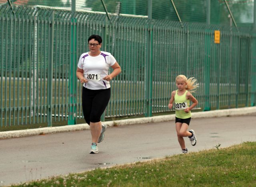
<path fill-rule="evenodd" d="M 84 78 L 88 80 L 83 86 L 90 90 L 110 88 L 109 81 L 103 80 L 108 75 L 108 69 L 116 63 L 116 59 L 108 52 L 101 51 L 98 56 L 83 53 L 78 61 L 78 68 L 84 70 Z"/>

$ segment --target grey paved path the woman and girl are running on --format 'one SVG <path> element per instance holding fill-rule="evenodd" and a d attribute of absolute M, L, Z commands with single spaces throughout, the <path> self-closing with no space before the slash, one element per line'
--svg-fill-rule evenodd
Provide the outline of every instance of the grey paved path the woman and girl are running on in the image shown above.
<path fill-rule="evenodd" d="M 255 121 L 256 113 L 192 119 L 198 142 L 185 138 L 188 151 L 256 141 Z M 109 127 L 98 154 L 89 154 L 90 138 L 83 130 L 0 139 L 0 186 L 180 152 L 174 121 Z"/>

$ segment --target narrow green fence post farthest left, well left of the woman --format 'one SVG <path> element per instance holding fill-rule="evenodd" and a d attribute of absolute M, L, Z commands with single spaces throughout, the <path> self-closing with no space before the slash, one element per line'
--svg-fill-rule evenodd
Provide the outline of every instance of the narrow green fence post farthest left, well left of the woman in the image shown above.
<path fill-rule="evenodd" d="M 50 36 L 49 36 L 49 64 L 48 64 L 48 78 L 47 78 L 47 90 L 48 90 L 48 127 L 52 126 L 52 75 L 53 75 L 53 38 L 54 38 L 54 11 L 50 16 Z"/>

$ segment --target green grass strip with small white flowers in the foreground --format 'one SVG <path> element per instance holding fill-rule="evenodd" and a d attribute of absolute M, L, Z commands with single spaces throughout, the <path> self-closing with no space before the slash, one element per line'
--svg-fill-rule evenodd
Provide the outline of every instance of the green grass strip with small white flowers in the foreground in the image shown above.
<path fill-rule="evenodd" d="M 16 186 L 256 186 L 256 142 L 84 173 L 55 176 Z"/>

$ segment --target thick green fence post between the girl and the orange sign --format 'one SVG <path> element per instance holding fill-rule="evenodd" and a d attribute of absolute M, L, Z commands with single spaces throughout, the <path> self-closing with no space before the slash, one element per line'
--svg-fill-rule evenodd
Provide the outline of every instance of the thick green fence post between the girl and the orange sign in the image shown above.
<path fill-rule="evenodd" d="M 204 111 L 209 111 L 210 106 L 210 46 L 211 46 L 211 31 L 205 31 L 205 46 L 204 46 Z"/>

